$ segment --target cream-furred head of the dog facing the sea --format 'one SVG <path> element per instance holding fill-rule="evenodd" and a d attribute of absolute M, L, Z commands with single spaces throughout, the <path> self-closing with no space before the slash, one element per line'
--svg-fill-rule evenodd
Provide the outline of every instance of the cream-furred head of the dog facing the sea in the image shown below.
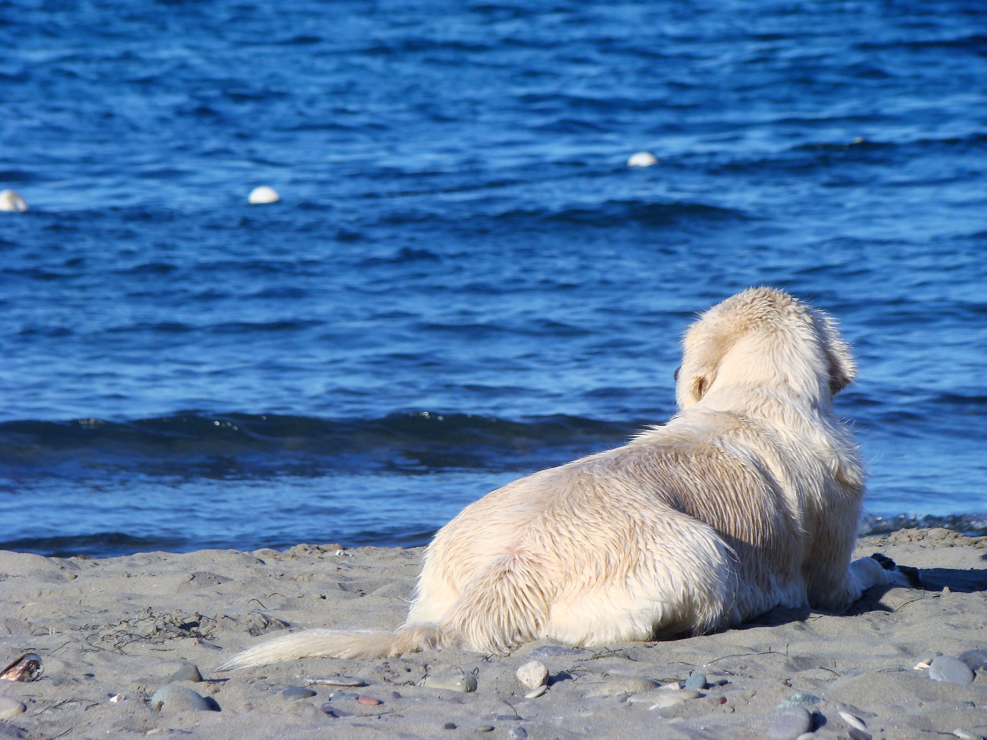
<path fill-rule="evenodd" d="M 685 333 L 675 398 L 682 410 L 732 385 L 769 386 L 829 405 L 857 374 L 836 322 L 788 293 L 748 288 Z"/>

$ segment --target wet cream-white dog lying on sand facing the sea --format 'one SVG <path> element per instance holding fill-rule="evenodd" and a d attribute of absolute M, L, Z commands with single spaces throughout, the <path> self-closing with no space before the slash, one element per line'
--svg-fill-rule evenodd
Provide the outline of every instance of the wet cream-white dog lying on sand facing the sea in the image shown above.
<path fill-rule="evenodd" d="M 864 471 L 833 412 L 856 373 L 835 322 L 750 288 L 703 314 L 683 345 L 680 412 L 463 509 L 428 546 L 404 627 L 286 634 L 220 669 L 701 634 L 777 606 L 841 612 L 874 585 L 908 585 L 886 558 L 850 562 Z"/>

